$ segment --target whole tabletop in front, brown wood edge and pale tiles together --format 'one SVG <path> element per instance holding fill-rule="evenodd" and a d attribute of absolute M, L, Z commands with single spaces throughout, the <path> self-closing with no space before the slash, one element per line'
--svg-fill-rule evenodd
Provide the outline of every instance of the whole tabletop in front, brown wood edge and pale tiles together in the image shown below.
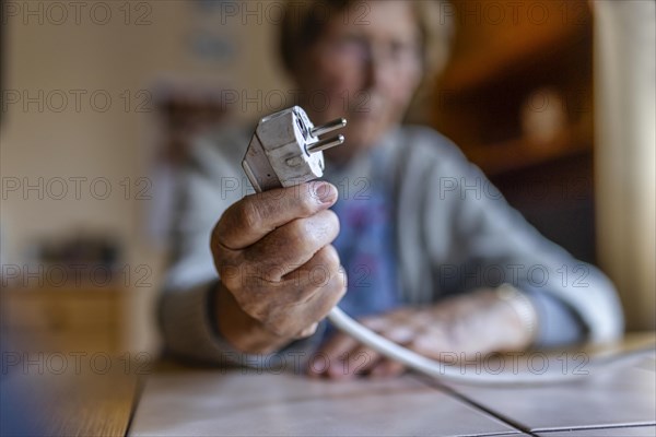
<path fill-rule="evenodd" d="M 647 350 L 589 377 L 543 387 L 446 385 L 414 374 L 336 382 L 172 364 L 150 373 L 144 362 L 125 356 L 112 357 L 105 371 L 106 357 L 92 364 L 91 355 L 80 369 L 69 358 L 58 374 L 61 366 L 44 356 L 39 374 L 34 356 L 27 368 L 3 356 L 2 406 L 4 413 L 13 405 L 14 422 L 16 410 L 30 417 L 34 426 L 24 435 L 655 436 L 654 339 L 632 335 L 614 349 Z"/>

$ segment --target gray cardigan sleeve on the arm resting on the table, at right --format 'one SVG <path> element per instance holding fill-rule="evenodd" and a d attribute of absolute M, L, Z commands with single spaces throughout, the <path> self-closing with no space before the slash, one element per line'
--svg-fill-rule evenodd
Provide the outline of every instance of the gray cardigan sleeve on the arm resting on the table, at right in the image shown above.
<path fill-rule="evenodd" d="M 419 231 L 406 225 L 401 238 L 420 248 L 406 249 L 407 258 L 429 264 L 414 269 L 432 277 L 433 292 L 514 285 L 538 310 L 538 345 L 621 335 L 621 304 L 604 273 L 543 237 L 444 137 L 422 128 L 406 141 L 403 211 L 419 210 Z"/>

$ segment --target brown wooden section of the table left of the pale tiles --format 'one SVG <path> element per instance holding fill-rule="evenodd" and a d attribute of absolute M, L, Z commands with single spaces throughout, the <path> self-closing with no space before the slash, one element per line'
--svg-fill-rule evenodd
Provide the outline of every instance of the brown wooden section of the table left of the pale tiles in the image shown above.
<path fill-rule="evenodd" d="M 2 361 L 3 436 L 124 436 L 148 371 L 142 361 L 91 351 L 3 351 Z"/>

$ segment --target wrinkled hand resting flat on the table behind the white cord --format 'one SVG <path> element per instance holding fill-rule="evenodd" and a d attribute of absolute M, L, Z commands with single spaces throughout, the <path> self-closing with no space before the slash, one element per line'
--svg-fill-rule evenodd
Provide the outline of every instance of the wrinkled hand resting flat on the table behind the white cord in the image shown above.
<path fill-rule="evenodd" d="M 520 351 L 531 341 L 530 332 L 515 310 L 492 290 L 453 297 L 431 307 L 401 308 L 366 317 L 360 322 L 383 336 L 430 358 Z M 311 376 L 336 379 L 355 375 L 393 377 L 405 366 L 383 357 L 344 333 L 337 333 L 308 365 Z"/>

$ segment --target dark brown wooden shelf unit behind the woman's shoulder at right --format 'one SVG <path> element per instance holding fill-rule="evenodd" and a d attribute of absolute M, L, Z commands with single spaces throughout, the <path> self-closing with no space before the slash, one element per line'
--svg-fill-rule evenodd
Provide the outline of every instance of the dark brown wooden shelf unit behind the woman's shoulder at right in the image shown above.
<path fill-rule="evenodd" d="M 542 234 L 595 261 L 587 1 L 453 4 L 455 47 L 437 79 L 434 126 Z"/>

